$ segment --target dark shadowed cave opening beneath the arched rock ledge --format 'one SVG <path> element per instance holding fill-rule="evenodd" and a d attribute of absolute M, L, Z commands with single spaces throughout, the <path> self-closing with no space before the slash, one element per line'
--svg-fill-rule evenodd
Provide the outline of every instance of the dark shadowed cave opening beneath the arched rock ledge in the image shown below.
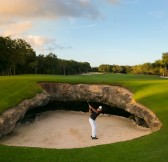
<path fill-rule="evenodd" d="M 109 105 L 98 103 L 98 102 L 89 102 L 89 104 L 94 108 L 98 108 L 98 106 L 100 105 L 103 106 L 102 114 L 116 115 L 116 116 L 129 118 L 130 120 L 132 119 L 136 124 L 148 128 L 148 125 L 146 124 L 144 119 L 135 117 L 133 114 L 125 111 L 122 108 L 111 107 Z M 55 110 L 88 112 L 88 103 L 86 101 L 71 101 L 71 102 L 53 101 L 48 103 L 45 106 L 29 109 L 26 112 L 24 118 L 19 122 L 24 124 L 31 124 L 36 120 L 38 116 L 40 116 L 41 113 L 47 112 L 47 111 L 55 111 Z"/>

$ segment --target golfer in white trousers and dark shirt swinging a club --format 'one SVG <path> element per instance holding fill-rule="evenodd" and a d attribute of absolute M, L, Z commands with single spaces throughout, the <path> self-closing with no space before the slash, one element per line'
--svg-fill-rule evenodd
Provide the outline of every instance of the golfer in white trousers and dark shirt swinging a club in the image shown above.
<path fill-rule="evenodd" d="M 91 105 L 89 105 L 89 112 L 91 113 L 89 117 L 89 122 L 92 128 L 92 139 L 98 139 L 96 137 L 96 118 L 97 116 L 101 113 L 102 111 L 102 106 L 99 106 L 98 109 L 93 108 Z"/>

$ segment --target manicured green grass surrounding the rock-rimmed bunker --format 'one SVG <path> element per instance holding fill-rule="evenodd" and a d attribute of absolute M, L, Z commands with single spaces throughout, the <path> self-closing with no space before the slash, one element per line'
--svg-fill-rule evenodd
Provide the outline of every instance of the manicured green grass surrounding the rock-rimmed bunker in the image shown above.
<path fill-rule="evenodd" d="M 0 162 L 166 162 L 168 158 L 168 79 L 157 76 L 103 74 L 90 76 L 20 75 L 0 77 L 0 111 L 41 92 L 37 82 L 120 85 L 134 93 L 136 101 L 156 113 L 160 131 L 127 142 L 80 149 L 43 149 L 0 145 Z M 110 128 L 113 129 L 113 128 Z M 104 132 L 105 133 L 105 132 Z"/>

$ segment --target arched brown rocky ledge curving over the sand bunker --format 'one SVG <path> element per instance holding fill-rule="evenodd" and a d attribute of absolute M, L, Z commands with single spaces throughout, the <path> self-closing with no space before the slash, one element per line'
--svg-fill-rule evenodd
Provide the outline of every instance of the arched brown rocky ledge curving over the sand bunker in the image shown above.
<path fill-rule="evenodd" d="M 25 113 L 32 108 L 47 105 L 52 101 L 90 101 L 124 109 L 132 114 L 135 122 L 143 119 L 151 131 L 157 131 L 162 123 L 147 107 L 136 103 L 133 94 L 119 86 L 93 84 L 39 83 L 43 92 L 34 98 L 5 111 L 0 116 L 0 136 L 7 135 L 15 128 Z"/>

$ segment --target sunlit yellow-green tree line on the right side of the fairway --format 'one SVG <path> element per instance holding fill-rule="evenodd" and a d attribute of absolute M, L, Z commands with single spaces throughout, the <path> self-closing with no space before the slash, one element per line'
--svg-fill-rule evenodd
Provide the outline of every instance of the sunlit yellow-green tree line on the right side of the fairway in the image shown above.
<path fill-rule="evenodd" d="M 97 71 L 108 73 L 131 73 L 168 76 L 168 52 L 162 53 L 162 59 L 156 60 L 153 63 L 144 63 L 135 66 L 102 64 L 97 68 Z"/>

